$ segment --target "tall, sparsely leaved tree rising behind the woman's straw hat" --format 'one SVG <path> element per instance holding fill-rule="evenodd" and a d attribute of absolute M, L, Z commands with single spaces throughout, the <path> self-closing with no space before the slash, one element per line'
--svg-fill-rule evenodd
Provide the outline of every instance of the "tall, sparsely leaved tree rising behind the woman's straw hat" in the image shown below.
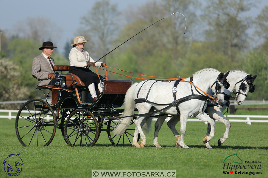
<path fill-rule="evenodd" d="M 85 49 L 90 49 L 91 56 L 102 57 L 108 53 L 114 35 L 119 31 L 117 5 L 108 0 L 96 1 L 94 7 L 82 17 L 81 33 L 89 39 Z M 92 54 L 93 53 L 93 54 Z M 105 58 L 102 59 L 105 62 Z"/>

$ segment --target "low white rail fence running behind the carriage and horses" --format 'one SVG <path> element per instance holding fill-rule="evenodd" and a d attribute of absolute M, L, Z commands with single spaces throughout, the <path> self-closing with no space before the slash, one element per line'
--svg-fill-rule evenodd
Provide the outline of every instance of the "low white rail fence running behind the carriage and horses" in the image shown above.
<path fill-rule="evenodd" d="M 8 110 L 8 109 L 0 109 L 0 112 L 7 112 L 8 115 L 0 115 L 0 118 L 7 118 L 7 119 L 15 119 L 16 115 L 12 115 L 12 113 L 18 113 L 18 110 Z M 23 113 L 29 113 L 29 111 L 22 111 Z M 31 113 L 34 113 L 34 111 L 30 111 Z M 246 118 L 244 119 L 229 119 L 230 122 L 245 122 L 246 124 L 251 125 L 253 122 L 258 122 L 258 123 L 268 123 L 268 120 L 252 120 L 250 118 L 268 118 L 266 115 L 224 115 L 225 117 L 235 117 L 235 118 Z M 51 116 L 47 115 L 46 120 L 53 119 Z M 156 120 L 153 119 L 153 120 Z M 167 117 L 166 122 L 170 120 L 170 117 Z M 191 119 L 189 118 L 188 121 L 201 121 L 199 119 Z M 217 120 L 216 120 L 217 121 Z M 217 121 L 218 122 L 218 121 Z"/>

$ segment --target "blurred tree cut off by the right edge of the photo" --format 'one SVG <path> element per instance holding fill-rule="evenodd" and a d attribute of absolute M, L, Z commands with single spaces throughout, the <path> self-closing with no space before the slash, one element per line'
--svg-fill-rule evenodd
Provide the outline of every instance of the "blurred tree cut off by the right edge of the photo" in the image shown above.
<path fill-rule="evenodd" d="M 261 38 L 263 50 L 268 50 L 268 6 L 265 6 L 261 13 L 255 18 L 255 33 Z"/>

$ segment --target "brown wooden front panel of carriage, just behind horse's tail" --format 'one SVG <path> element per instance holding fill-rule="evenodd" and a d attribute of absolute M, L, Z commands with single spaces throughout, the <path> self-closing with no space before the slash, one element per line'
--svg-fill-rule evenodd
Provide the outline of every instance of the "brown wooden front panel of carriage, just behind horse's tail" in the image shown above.
<path fill-rule="evenodd" d="M 104 93 L 106 95 L 123 94 L 125 95 L 127 90 L 131 86 L 131 82 L 128 81 L 104 81 Z"/>

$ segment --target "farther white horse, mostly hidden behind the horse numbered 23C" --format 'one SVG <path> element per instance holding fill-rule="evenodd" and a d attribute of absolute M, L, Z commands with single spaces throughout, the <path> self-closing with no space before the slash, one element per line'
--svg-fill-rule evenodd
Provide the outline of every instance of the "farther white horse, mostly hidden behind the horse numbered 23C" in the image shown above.
<path fill-rule="evenodd" d="M 226 72 L 227 73 L 227 72 Z M 226 74 L 225 73 L 225 74 Z M 233 90 L 236 87 L 236 91 L 237 95 L 236 95 L 236 103 L 237 104 L 243 104 L 244 100 L 247 96 L 247 92 L 253 92 L 254 91 L 254 79 L 257 76 L 251 76 L 250 74 L 246 73 L 245 71 L 242 70 L 233 70 L 233 71 L 228 71 L 228 76 L 227 81 L 229 82 L 230 86 L 228 89 L 225 89 L 225 94 L 227 95 L 231 95 L 231 93 L 233 92 Z M 174 81 L 170 82 L 170 83 L 174 83 Z M 211 90 L 209 90 L 208 94 L 212 94 Z M 228 133 L 230 130 L 230 122 L 223 116 L 222 112 L 226 109 L 226 103 L 229 102 L 229 98 L 226 97 L 224 102 L 221 104 L 222 107 L 218 107 L 218 106 L 214 106 L 214 107 L 207 107 L 206 111 L 208 112 L 209 116 L 215 121 L 218 120 L 222 123 L 225 124 L 226 126 L 226 131 L 223 134 L 223 138 L 218 140 L 218 145 L 220 146 L 226 139 L 228 139 Z M 212 103 L 210 101 L 208 101 L 208 105 L 211 105 Z M 161 147 L 158 144 L 158 132 L 161 128 L 161 125 L 163 124 L 164 120 L 166 119 L 167 116 L 160 116 L 158 117 L 156 123 L 155 123 L 155 135 L 154 135 L 154 141 L 153 144 L 156 147 Z M 180 136 L 179 133 L 177 132 L 175 125 L 177 124 L 177 122 L 180 121 L 180 117 L 178 117 L 177 115 L 174 115 L 174 117 L 172 117 L 168 122 L 167 125 L 169 126 L 169 128 L 171 129 L 171 131 L 173 132 L 174 136 L 177 139 L 176 142 L 176 146 L 179 146 L 178 143 L 180 142 Z M 208 129 L 207 129 L 207 136 L 210 134 L 210 129 L 211 126 L 210 124 L 208 124 Z M 204 143 L 207 147 L 207 149 L 212 149 L 212 147 L 209 145 L 209 143 Z"/>

